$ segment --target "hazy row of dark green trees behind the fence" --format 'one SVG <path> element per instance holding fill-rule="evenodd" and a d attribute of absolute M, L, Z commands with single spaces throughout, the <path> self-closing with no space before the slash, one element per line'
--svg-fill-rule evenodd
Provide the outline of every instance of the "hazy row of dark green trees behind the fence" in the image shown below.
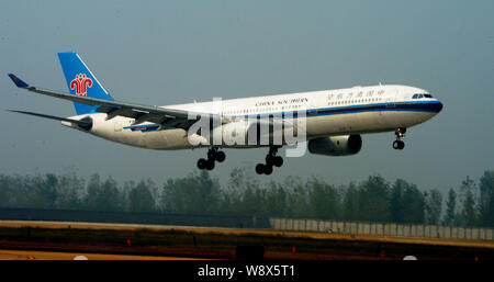
<path fill-rule="evenodd" d="M 494 170 L 467 177 L 444 195 L 380 174 L 346 185 L 311 177 L 261 182 L 248 168 L 234 168 L 226 184 L 207 171 L 117 183 L 113 178 L 65 174 L 0 174 L 0 207 L 272 216 L 494 227 Z"/>

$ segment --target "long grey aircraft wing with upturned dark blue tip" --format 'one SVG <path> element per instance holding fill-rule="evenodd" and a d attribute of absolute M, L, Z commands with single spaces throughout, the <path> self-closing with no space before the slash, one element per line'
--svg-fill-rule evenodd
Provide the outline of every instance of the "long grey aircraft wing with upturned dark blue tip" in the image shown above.
<path fill-rule="evenodd" d="M 81 95 L 75 95 L 70 93 L 64 93 L 53 90 L 46 90 L 36 88 L 33 86 L 27 84 L 23 80 L 21 80 L 19 77 L 16 77 L 13 74 L 9 74 L 9 77 L 12 79 L 12 81 L 15 83 L 16 87 L 23 88 L 25 90 L 29 90 L 31 92 L 44 94 L 44 95 L 50 95 L 72 102 L 83 103 L 88 105 L 100 105 L 97 109 L 97 112 L 99 113 L 106 113 L 108 117 L 106 120 L 113 119 L 114 116 L 125 116 L 135 119 L 134 124 L 139 124 L 143 122 L 151 122 L 161 124 L 162 127 L 176 127 L 176 128 L 184 128 L 188 129 L 193 123 L 197 122 L 201 116 L 206 116 L 209 119 L 220 119 L 222 120 L 221 115 L 217 114 L 210 114 L 210 113 L 200 113 L 200 112 L 190 112 L 190 111 L 182 111 L 182 110 L 176 110 L 176 109 L 169 109 L 169 108 L 162 108 L 162 106 L 156 106 L 156 105 L 143 105 L 143 104 L 136 104 L 136 103 L 130 103 L 130 102 L 123 102 L 123 101 L 111 101 L 111 100 L 104 100 L 104 99 L 97 99 L 97 98 L 90 98 L 90 97 L 81 97 Z M 189 120 L 189 116 L 191 116 L 193 120 Z"/>

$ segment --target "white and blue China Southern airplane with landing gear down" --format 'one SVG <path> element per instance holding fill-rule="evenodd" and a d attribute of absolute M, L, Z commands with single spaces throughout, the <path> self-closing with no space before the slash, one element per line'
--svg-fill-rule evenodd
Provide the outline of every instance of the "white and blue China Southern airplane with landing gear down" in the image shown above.
<path fill-rule="evenodd" d="M 278 149 L 290 144 L 273 142 L 273 126 L 303 131 L 311 154 L 349 156 L 360 151 L 362 134 L 394 132 L 392 144 L 401 150 L 406 129 L 422 124 L 442 110 L 442 103 L 420 88 L 381 84 L 289 94 L 251 97 L 213 102 L 175 105 L 143 105 L 114 100 L 75 52 L 58 53 L 69 92 L 41 89 L 8 74 L 18 88 L 74 102 L 77 115 L 59 117 L 27 111 L 11 112 L 60 121 L 63 125 L 94 136 L 147 149 L 178 150 L 209 148 L 207 158 L 198 160 L 199 169 L 212 170 L 226 158 L 223 148 L 268 147 L 265 163 L 257 163 L 258 174 L 271 174 L 281 167 Z M 191 119 L 194 117 L 194 119 Z M 209 128 L 225 134 L 255 136 L 254 143 L 211 143 L 212 134 L 191 128 L 198 119 L 210 121 Z M 303 126 L 297 127 L 297 122 Z M 268 124 L 268 142 L 260 142 L 260 125 Z M 270 126 L 270 127 L 269 127 Z M 220 129 L 218 129 L 220 128 Z M 225 129 L 226 128 L 226 129 Z M 257 129 L 252 134 L 251 128 Z M 278 127 L 279 128 L 279 127 Z M 299 128 L 299 129 L 297 129 Z M 254 131 L 256 132 L 256 131 Z M 265 132 L 266 133 L 266 132 Z M 266 134 L 265 134 L 266 135 Z M 266 139 L 263 139 L 266 140 Z M 198 145 L 199 144 L 199 145 Z M 299 144 L 299 140 L 296 142 Z"/>

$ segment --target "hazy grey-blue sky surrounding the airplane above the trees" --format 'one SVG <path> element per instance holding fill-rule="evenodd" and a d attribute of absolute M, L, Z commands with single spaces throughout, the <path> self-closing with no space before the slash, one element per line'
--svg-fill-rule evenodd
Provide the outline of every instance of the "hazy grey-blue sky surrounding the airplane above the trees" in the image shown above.
<path fill-rule="evenodd" d="M 162 183 L 195 169 L 205 149 L 158 151 L 106 142 L 59 122 L 70 102 L 16 89 L 67 91 L 57 53 L 76 50 L 111 94 L 144 104 L 400 83 L 430 91 L 442 112 L 408 129 L 363 135 L 360 154 L 285 158 L 266 180 L 329 183 L 381 173 L 420 189 L 458 187 L 494 169 L 494 1 L 1 1 L 0 173 L 76 168 Z M 266 149 L 226 149 L 212 176 L 256 163 Z"/>

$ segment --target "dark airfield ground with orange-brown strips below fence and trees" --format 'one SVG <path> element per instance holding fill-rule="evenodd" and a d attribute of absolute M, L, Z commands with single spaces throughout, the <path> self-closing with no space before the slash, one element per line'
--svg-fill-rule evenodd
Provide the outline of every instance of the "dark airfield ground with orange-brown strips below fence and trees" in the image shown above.
<path fill-rule="evenodd" d="M 236 259 L 238 246 L 266 260 L 494 259 L 493 240 L 440 239 L 142 224 L 0 221 L 0 259 Z M 259 253 L 254 253 L 258 256 Z M 250 255 L 249 255 L 250 256 Z"/>

